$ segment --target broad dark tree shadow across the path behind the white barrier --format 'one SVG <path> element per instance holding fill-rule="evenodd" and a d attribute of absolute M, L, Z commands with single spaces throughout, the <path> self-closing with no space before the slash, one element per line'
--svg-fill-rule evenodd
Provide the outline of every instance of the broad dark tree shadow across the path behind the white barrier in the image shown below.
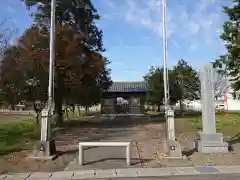
<path fill-rule="evenodd" d="M 59 156 L 61 156 L 76 153 L 79 141 L 116 141 L 116 139 L 132 141 L 132 134 L 141 131 L 133 127 L 164 122 L 164 117 L 156 115 L 152 117 L 102 117 L 88 121 L 71 120 L 65 122 L 63 128 L 55 132 L 54 136 L 57 149 L 60 149 Z"/>

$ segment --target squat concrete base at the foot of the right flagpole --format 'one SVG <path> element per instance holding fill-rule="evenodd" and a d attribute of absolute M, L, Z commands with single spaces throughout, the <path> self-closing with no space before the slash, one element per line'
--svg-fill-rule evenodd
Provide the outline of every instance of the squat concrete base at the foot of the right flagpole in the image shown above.
<path fill-rule="evenodd" d="M 164 142 L 164 158 L 177 158 L 182 159 L 182 150 L 178 141 L 166 140 Z"/>

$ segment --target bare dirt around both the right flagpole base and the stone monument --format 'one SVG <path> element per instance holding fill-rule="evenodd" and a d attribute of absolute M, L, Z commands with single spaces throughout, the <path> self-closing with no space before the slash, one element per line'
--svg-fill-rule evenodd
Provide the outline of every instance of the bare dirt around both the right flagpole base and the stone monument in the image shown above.
<path fill-rule="evenodd" d="M 231 134 L 231 136 L 224 134 L 225 141 L 230 145 L 228 153 L 203 154 L 196 152 L 194 149 L 197 131 L 186 128 L 184 121 L 186 120 L 177 119 L 175 122 L 176 138 L 181 144 L 182 152 L 186 159 L 161 158 L 161 155 L 164 154 L 163 144 L 166 137 L 164 123 L 140 125 L 142 130 L 135 137 L 139 145 L 140 158 L 151 159 L 144 164 L 144 167 L 240 165 L 239 134 Z"/>

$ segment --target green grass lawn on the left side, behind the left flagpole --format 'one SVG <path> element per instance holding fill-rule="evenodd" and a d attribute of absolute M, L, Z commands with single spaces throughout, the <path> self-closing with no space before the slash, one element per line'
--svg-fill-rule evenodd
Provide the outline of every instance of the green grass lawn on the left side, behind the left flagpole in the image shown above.
<path fill-rule="evenodd" d="M 69 119 L 64 115 L 64 120 L 88 120 L 96 113 L 80 116 L 78 113 L 69 112 Z M 29 119 L 30 117 L 25 117 Z M 31 117 L 32 118 L 32 117 Z M 57 131 L 55 128 L 54 131 Z M 34 119 L 24 120 L 24 116 L 1 115 L 0 116 L 0 156 L 8 155 L 13 152 L 31 149 L 33 143 L 40 139 L 40 126 L 36 125 Z"/>

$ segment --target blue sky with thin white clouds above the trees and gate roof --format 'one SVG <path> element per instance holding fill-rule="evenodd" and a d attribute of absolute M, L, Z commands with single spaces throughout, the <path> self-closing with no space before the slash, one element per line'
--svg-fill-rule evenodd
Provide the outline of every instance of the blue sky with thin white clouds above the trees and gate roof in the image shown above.
<path fill-rule="evenodd" d="M 162 66 L 161 0 L 93 0 L 101 16 L 104 53 L 111 61 L 112 79 L 142 80 L 149 67 Z M 230 0 L 167 0 L 168 66 L 179 59 L 194 68 L 226 52 L 219 38 Z M 32 23 L 20 0 L 0 4 L 0 18 L 21 35 Z"/>

